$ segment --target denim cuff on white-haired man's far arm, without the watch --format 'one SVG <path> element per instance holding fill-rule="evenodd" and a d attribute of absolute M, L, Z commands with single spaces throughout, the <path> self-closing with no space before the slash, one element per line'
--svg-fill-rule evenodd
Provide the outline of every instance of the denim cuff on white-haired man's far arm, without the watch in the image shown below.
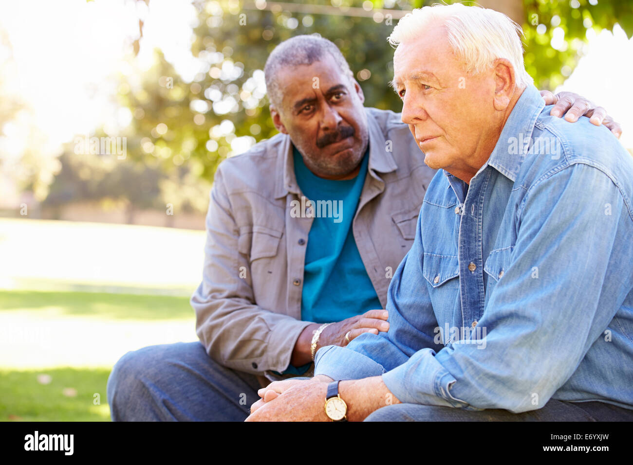
<path fill-rule="evenodd" d="M 369 376 L 379 376 L 385 369 L 377 363 L 355 350 L 327 345 L 316 351 L 315 376 L 325 375 L 333 380 L 360 380 Z"/>

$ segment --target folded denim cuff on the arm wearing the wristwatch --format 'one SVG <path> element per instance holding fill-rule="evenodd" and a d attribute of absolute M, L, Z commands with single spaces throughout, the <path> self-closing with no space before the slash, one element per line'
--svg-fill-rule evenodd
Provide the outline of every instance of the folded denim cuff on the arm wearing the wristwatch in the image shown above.
<path fill-rule="evenodd" d="M 382 375 L 382 381 L 403 404 L 468 407 L 467 402 L 451 395 L 456 380 L 435 355 L 432 349 L 418 350 L 408 361 Z"/>

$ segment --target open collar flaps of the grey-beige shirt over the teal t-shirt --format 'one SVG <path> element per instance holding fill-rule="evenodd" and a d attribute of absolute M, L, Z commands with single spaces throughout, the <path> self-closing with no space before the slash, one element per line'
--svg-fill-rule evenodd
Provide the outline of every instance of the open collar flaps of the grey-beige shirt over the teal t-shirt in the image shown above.
<path fill-rule="evenodd" d="M 367 115 L 367 131 L 369 134 L 369 163 L 367 170 L 374 178 L 380 180 L 375 173 L 390 173 L 398 169 L 398 165 L 391 154 L 387 151 L 387 140 L 384 132 L 380 128 L 378 121 L 373 117 L 370 109 L 365 108 Z M 294 161 L 292 159 L 292 141 L 287 134 L 283 135 L 284 140 L 280 144 L 280 150 L 284 156 L 277 158 L 275 187 L 275 199 L 285 197 L 289 192 L 299 195 L 301 191 L 294 175 Z M 393 146 L 394 141 L 391 141 Z"/>

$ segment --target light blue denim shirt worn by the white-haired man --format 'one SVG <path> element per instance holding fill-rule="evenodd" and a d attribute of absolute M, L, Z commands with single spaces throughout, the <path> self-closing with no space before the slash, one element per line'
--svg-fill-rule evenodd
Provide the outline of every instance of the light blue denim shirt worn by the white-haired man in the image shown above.
<path fill-rule="evenodd" d="M 440 170 L 387 292 L 389 332 L 316 354 L 401 402 L 633 409 L 633 159 L 527 87 L 470 186 Z"/>

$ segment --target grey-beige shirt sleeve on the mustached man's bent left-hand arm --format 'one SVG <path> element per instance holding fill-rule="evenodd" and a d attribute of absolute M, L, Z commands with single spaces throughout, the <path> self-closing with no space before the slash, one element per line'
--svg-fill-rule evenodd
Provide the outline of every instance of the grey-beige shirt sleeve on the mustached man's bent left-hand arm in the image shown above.
<path fill-rule="evenodd" d="M 282 372 L 310 322 L 254 302 L 249 281 L 239 276 L 241 269 L 249 270 L 249 263 L 239 253 L 238 240 L 220 165 L 206 215 L 203 280 L 191 297 L 196 333 L 209 356 L 224 366 L 248 373 Z"/>

